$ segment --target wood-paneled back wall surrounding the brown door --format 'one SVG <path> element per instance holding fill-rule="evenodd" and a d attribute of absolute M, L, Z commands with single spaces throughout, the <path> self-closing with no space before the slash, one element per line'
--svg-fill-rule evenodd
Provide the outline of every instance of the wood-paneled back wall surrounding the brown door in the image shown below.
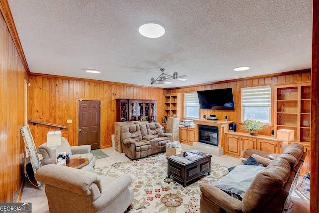
<path fill-rule="evenodd" d="M 117 98 L 157 100 L 157 121 L 160 122 L 164 96 L 163 89 L 117 84 L 106 81 L 71 79 L 55 76 L 30 75 L 29 82 L 29 119 L 48 122 L 69 129 L 62 130 L 71 146 L 78 145 L 78 100 L 101 101 L 101 148 L 112 146 L 116 122 Z M 71 119 L 72 123 L 67 123 Z M 36 146 L 46 142 L 48 131 L 60 130 L 43 124 L 32 125 L 30 129 Z"/>

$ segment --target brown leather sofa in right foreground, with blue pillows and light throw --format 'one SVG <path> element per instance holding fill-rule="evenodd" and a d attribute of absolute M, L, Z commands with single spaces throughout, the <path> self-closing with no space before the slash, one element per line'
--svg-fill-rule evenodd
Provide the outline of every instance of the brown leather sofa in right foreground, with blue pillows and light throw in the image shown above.
<path fill-rule="evenodd" d="M 215 184 L 201 184 L 201 213 L 280 213 L 287 208 L 288 199 L 294 190 L 299 171 L 306 157 L 304 147 L 292 143 L 274 160 L 256 154 L 252 155 L 258 164 L 265 166 L 257 173 L 242 200 L 231 196 L 232 193 L 217 188 L 217 182 L 231 176 L 223 176 Z M 257 167 L 257 166 L 256 166 Z M 235 169 L 234 169 L 235 170 Z M 245 175 L 246 171 L 242 171 Z M 227 177 L 228 178 L 228 177 Z M 236 179 L 236 178 L 235 178 Z M 237 177 L 237 179 L 239 179 Z"/>

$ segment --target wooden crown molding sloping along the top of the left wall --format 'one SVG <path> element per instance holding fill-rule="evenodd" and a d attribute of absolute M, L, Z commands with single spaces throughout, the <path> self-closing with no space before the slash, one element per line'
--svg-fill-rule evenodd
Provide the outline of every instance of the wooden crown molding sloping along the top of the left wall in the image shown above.
<path fill-rule="evenodd" d="M 24 52 L 23 52 L 23 48 L 22 48 L 22 45 L 20 42 L 18 32 L 15 28 L 14 20 L 13 20 L 10 6 L 9 6 L 9 3 L 7 0 L 0 0 L 0 10 L 1 10 L 2 16 L 4 18 L 4 21 L 9 29 L 9 32 L 11 34 L 13 43 L 14 43 L 14 45 L 19 53 L 19 56 L 21 58 L 22 64 L 25 68 L 25 71 L 27 72 L 27 74 L 30 74 L 30 69 L 29 69 L 28 63 L 26 61 Z"/>

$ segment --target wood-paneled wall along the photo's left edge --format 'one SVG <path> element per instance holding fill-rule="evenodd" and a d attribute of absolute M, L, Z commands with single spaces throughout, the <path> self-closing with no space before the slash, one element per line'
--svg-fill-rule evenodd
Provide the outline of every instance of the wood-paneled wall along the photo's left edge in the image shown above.
<path fill-rule="evenodd" d="M 0 202 L 21 196 L 24 180 L 25 78 L 27 73 L 0 15 Z"/>

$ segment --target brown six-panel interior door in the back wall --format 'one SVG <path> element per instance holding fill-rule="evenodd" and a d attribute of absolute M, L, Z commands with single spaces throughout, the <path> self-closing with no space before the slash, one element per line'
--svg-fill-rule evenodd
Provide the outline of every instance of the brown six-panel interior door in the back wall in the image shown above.
<path fill-rule="evenodd" d="M 100 101 L 79 101 L 79 145 L 100 148 Z"/>

